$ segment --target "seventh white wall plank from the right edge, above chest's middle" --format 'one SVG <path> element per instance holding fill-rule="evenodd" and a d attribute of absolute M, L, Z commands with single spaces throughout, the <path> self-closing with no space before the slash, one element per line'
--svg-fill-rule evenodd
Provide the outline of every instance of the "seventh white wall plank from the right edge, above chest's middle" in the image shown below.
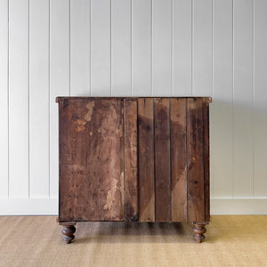
<path fill-rule="evenodd" d="M 132 86 L 151 95 L 151 0 L 132 1 Z"/>

